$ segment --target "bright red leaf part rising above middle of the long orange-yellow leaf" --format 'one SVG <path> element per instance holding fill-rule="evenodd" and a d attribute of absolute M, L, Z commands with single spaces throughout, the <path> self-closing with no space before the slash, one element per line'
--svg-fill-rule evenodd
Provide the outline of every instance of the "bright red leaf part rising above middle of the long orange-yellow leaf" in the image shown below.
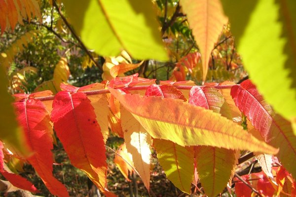
<path fill-rule="evenodd" d="M 182 99 L 186 101 L 184 95 L 180 90 L 175 88 L 172 85 L 162 85 L 158 86 L 152 84 L 148 86 L 145 96 L 156 96 L 156 97 L 163 97 L 163 98 L 171 98 L 171 99 Z"/>

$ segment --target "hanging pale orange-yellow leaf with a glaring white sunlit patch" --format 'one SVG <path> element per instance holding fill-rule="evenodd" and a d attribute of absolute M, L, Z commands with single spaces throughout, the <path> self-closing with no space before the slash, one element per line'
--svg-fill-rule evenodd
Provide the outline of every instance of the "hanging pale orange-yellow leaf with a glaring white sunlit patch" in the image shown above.
<path fill-rule="evenodd" d="M 150 187 L 150 144 L 151 136 L 130 112 L 121 107 L 121 126 L 127 151 L 132 155 L 134 165 L 139 172 L 145 187 Z"/>

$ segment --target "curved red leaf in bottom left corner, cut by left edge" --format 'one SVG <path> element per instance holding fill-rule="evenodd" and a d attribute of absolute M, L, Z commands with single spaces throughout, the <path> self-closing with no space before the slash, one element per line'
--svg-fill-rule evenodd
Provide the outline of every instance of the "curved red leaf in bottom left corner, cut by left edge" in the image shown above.
<path fill-rule="evenodd" d="M 23 189 L 23 190 L 28 190 L 30 192 L 37 193 L 39 192 L 36 187 L 27 179 L 13 173 L 9 173 L 5 170 L 4 168 L 4 155 L 3 155 L 3 144 L 0 141 L 0 173 L 15 187 Z"/>

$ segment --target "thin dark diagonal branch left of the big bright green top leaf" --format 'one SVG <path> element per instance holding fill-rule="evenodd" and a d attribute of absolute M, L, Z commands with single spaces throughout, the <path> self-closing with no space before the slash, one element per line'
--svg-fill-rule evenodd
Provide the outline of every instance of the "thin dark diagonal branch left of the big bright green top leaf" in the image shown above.
<path fill-rule="evenodd" d="M 92 54 L 90 53 L 90 51 L 86 48 L 86 46 L 83 44 L 83 42 L 81 41 L 81 39 L 79 38 L 79 36 L 75 33 L 74 29 L 71 27 L 71 25 L 69 24 L 69 22 L 67 21 L 67 19 L 65 18 L 65 16 L 62 14 L 60 8 L 58 7 L 58 5 L 56 3 L 56 0 L 52 0 L 52 4 L 56 8 L 56 10 L 58 11 L 59 15 L 61 16 L 62 20 L 64 21 L 64 23 L 66 24 L 66 26 L 68 27 L 68 29 L 70 30 L 70 32 L 73 34 L 73 36 L 78 41 L 79 45 L 82 47 L 82 49 L 85 51 L 85 53 L 89 56 L 89 58 L 94 62 L 94 64 L 99 68 L 99 70 L 101 72 L 103 72 L 102 66 L 99 65 L 99 63 L 97 61 L 95 61 L 95 59 L 92 56 Z"/>

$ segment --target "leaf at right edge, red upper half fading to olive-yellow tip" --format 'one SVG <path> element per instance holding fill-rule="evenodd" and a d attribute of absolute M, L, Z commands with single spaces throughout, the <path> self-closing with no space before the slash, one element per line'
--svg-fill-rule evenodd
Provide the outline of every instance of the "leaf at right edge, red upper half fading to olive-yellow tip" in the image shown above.
<path fill-rule="evenodd" d="M 238 108 L 247 116 L 266 143 L 279 147 L 278 159 L 296 176 L 296 136 L 291 123 L 275 114 L 250 80 L 231 88 L 231 96 Z M 267 154 L 267 153 L 266 153 Z"/>

